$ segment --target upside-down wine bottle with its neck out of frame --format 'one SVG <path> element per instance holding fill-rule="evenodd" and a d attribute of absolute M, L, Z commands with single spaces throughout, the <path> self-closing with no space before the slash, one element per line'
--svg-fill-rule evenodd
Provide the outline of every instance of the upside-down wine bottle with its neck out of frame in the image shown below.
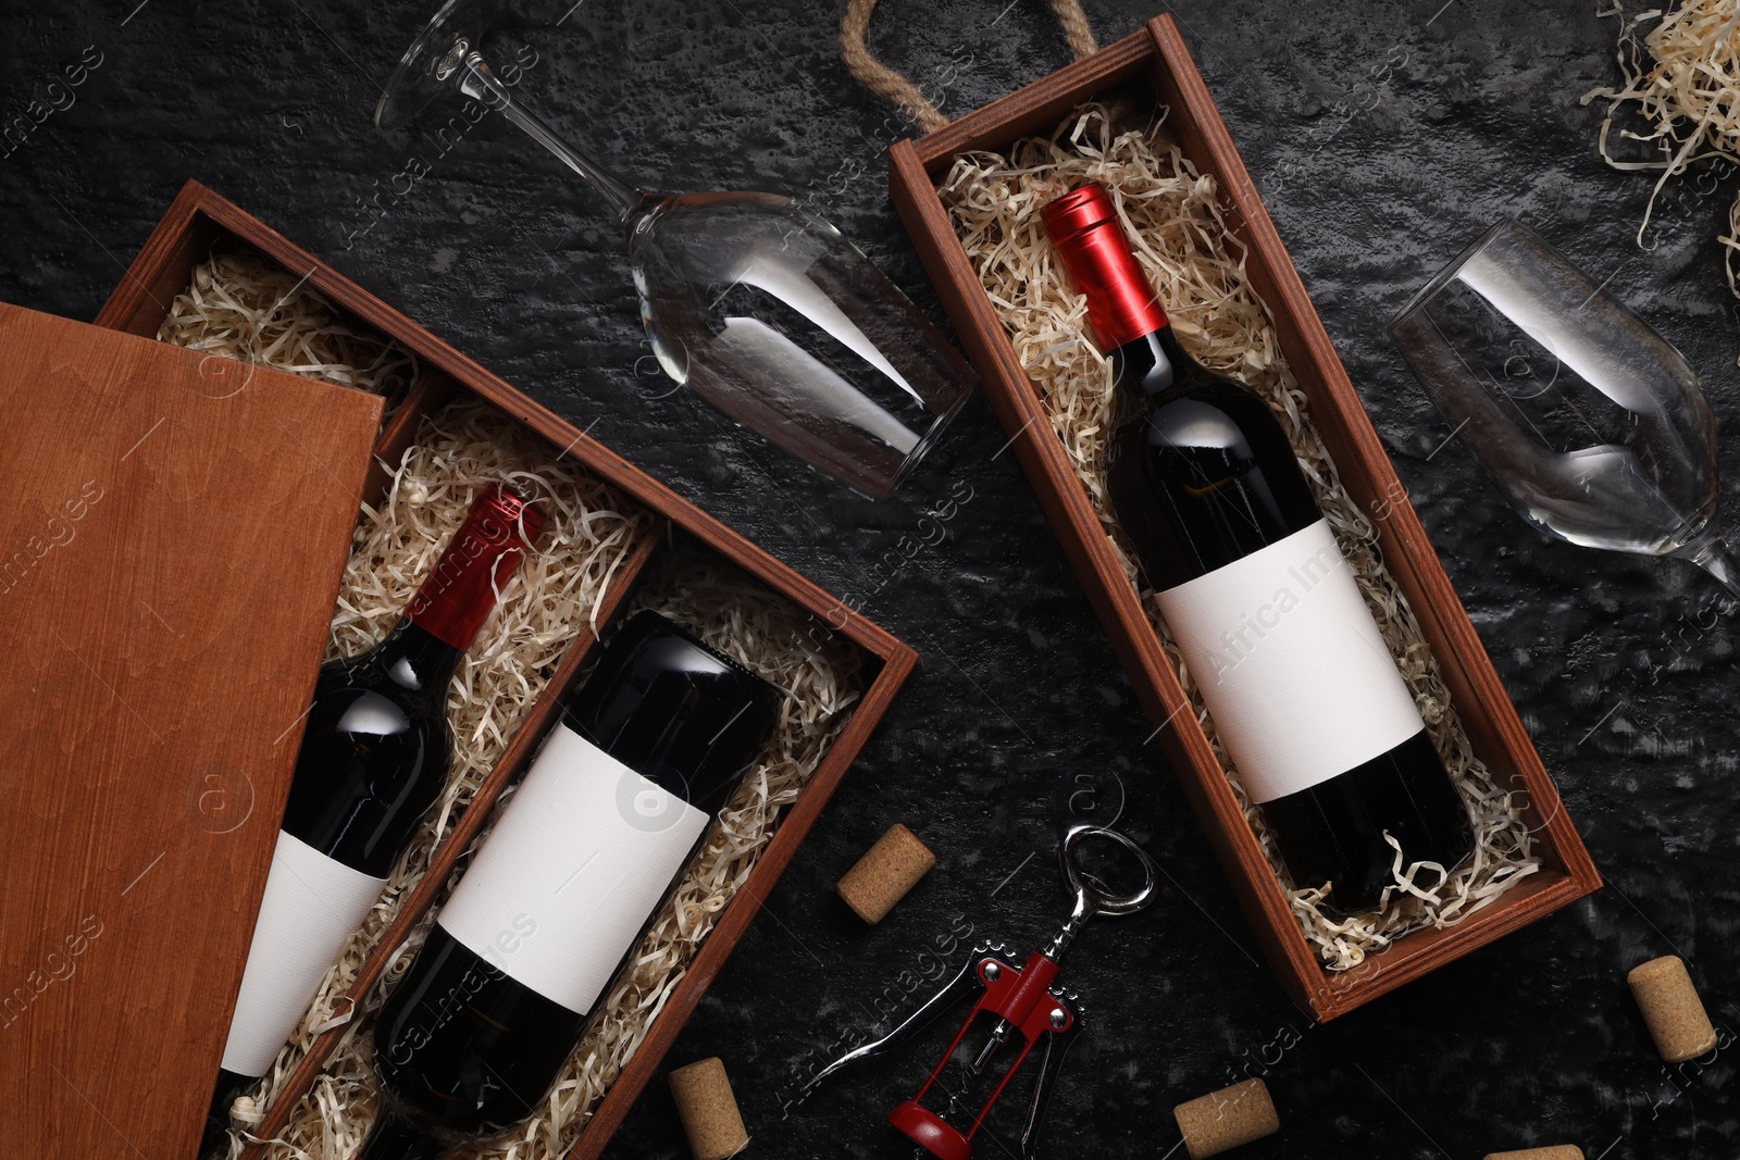
<path fill-rule="evenodd" d="M 358 1160 L 433 1160 L 536 1110 L 778 708 L 656 612 L 621 626 L 381 1007 Z"/>

